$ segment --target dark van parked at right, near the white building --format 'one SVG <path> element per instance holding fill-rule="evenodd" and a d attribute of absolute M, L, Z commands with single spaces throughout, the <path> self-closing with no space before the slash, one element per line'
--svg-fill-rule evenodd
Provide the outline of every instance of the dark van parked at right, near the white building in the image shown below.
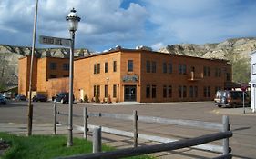
<path fill-rule="evenodd" d="M 218 107 L 238 107 L 243 105 L 243 92 L 242 91 L 217 91 L 214 104 Z M 244 93 L 244 104 L 250 104 L 250 97 Z"/>

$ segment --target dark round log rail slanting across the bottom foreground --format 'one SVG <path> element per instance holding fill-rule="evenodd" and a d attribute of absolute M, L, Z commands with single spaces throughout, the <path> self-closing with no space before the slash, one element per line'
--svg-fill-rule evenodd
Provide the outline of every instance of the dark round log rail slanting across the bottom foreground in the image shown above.
<path fill-rule="evenodd" d="M 152 153 L 159 153 L 163 151 L 172 151 L 178 150 L 181 148 L 186 148 L 190 146 L 195 146 L 199 144 L 206 144 L 216 140 L 230 138 L 232 136 L 232 132 L 220 132 L 215 134 L 206 134 L 199 137 L 195 137 L 192 139 L 183 139 L 176 142 L 165 143 L 165 144 L 155 144 L 155 145 L 145 145 L 136 148 L 126 148 L 111 152 L 104 152 L 104 153 L 95 153 L 95 154 L 80 154 L 76 156 L 68 156 L 62 159 L 96 159 L 96 158 L 121 158 L 121 157 L 130 157 L 130 156 L 137 156 L 142 154 L 152 154 Z M 231 154 L 224 154 L 218 158 L 227 158 L 232 157 Z"/>

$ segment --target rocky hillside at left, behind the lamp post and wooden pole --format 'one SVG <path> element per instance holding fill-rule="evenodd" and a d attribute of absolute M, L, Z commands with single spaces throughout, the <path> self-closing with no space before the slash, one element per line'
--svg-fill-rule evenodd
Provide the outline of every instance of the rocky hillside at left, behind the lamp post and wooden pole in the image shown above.
<path fill-rule="evenodd" d="M 20 57 L 31 55 L 31 47 L 0 45 L 0 91 L 6 87 L 17 85 L 18 82 L 18 59 Z M 75 56 L 81 57 L 90 55 L 87 49 L 76 49 Z M 69 57 L 67 48 L 40 48 L 36 49 L 37 58 L 45 56 Z"/>

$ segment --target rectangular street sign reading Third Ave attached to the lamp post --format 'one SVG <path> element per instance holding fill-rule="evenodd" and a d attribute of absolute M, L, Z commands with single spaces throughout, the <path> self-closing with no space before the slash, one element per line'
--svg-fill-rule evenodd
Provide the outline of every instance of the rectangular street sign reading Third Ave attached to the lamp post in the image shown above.
<path fill-rule="evenodd" d="M 51 37 L 51 36 L 39 36 L 39 43 L 43 45 L 61 45 L 61 46 L 70 46 L 70 39 Z"/>

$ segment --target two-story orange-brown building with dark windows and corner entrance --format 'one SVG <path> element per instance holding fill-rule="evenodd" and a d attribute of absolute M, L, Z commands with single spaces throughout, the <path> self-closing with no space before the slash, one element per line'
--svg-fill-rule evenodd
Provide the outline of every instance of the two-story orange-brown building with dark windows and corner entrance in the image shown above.
<path fill-rule="evenodd" d="M 59 75 L 50 72 L 51 67 L 47 65 L 53 61 L 52 57 L 49 59 L 44 61 L 45 66 L 40 67 L 41 59 L 37 59 L 35 87 L 36 91 L 46 91 L 50 98 L 57 92 L 68 91 L 66 87 L 60 89 L 61 85 L 67 84 L 68 78 L 59 79 Z M 56 61 L 56 65 L 59 63 Z M 46 70 L 41 73 L 39 69 Z M 40 75 L 45 76 L 44 82 L 38 80 Z M 207 101 L 214 98 L 217 90 L 227 88 L 225 84 L 231 81 L 232 69 L 226 60 L 140 49 L 118 48 L 77 58 L 74 62 L 74 94 L 77 100 L 84 100 L 86 95 L 89 100 L 95 100 L 98 95 L 100 101 L 110 98 L 112 102 Z"/>

